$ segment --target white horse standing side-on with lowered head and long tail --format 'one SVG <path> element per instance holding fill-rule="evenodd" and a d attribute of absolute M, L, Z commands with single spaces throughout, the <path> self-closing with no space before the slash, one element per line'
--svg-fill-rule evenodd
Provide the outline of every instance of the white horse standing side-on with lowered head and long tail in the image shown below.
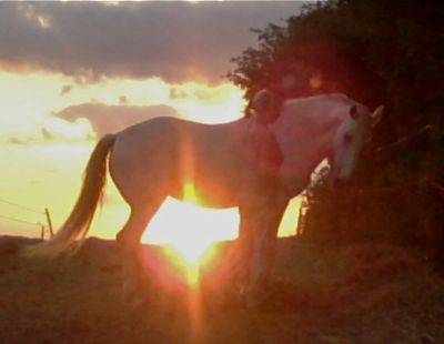
<path fill-rule="evenodd" d="M 383 112 L 380 107 L 372 113 L 342 94 L 269 104 L 274 103 L 280 108 L 266 109 L 265 101 L 255 110 L 279 112 L 270 124 L 283 156 L 274 175 L 276 183 L 254 184 L 256 166 L 249 143 L 254 119 L 214 125 L 151 119 L 98 142 L 71 215 L 54 237 L 34 252 L 57 254 L 87 235 L 109 156 L 111 178 L 131 208 L 128 222 L 117 235 L 123 254 L 125 294 L 134 295 L 138 289 L 137 249 L 148 223 L 167 195 L 181 200 L 185 185 L 192 183 L 205 206 L 239 206 L 239 241 L 246 262 L 244 283 L 246 295 L 254 300 L 258 285 L 270 274 L 279 223 L 289 201 L 306 188 L 311 173 L 325 158 L 332 159 L 334 179 L 347 180 Z"/>

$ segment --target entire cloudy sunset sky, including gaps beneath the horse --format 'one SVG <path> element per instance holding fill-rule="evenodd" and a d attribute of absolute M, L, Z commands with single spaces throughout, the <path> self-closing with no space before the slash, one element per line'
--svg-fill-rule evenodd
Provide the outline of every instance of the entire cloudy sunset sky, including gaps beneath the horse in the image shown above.
<path fill-rule="evenodd" d="M 240 118 L 243 93 L 222 78 L 234 68 L 230 59 L 256 44 L 250 28 L 280 23 L 301 7 L 0 2 L 0 234 L 39 235 L 37 225 L 6 217 L 44 223 L 42 214 L 7 202 L 49 208 L 60 226 L 104 133 L 158 115 L 206 123 Z M 294 232 L 296 205 L 281 233 Z M 109 179 L 90 234 L 114 237 L 128 213 Z M 238 221 L 233 210 L 203 211 L 168 200 L 144 241 L 234 237 Z M 192 232 L 199 227 L 210 230 Z"/>

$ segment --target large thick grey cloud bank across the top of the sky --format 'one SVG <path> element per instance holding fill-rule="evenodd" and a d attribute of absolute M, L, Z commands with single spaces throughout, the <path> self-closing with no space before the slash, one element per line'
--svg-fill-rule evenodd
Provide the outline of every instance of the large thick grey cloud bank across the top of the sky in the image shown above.
<path fill-rule="evenodd" d="M 1 2 L 0 69 L 38 68 L 78 81 L 161 77 L 218 81 L 255 44 L 250 28 L 279 23 L 297 1 Z"/>

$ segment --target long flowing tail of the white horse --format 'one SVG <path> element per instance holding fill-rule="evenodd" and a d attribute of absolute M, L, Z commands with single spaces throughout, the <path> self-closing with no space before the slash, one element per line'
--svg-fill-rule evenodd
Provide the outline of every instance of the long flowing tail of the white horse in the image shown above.
<path fill-rule="evenodd" d="M 79 247 L 77 240 L 87 236 L 95 209 L 101 200 L 107 180 L 108 154 L 114 141 L 115 135 L 108 134 L 98 142 L 88 161 L 80 195 L 68 220 L 51 240 L 38 245 L 27 246 L 26 254 L 54 256 Z"/>

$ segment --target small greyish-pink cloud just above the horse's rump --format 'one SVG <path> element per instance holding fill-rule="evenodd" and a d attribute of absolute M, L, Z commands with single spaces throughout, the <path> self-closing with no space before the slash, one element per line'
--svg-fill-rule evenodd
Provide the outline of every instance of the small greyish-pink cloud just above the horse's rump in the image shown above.
<path fill-rule="evenodd" d="M 168 105 L 129 107 L 102 103 L 72 105 L 56 115 L 71 122 L 79 118 L 88 119 L 98 136 L 118 132 L 129 125 L 160 115 L 179 117 L 178 112 Z"/>

